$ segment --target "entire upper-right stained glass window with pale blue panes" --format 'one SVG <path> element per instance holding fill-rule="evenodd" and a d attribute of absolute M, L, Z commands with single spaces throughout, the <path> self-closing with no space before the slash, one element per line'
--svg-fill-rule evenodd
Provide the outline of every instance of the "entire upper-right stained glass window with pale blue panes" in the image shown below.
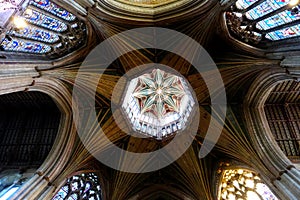
<path fill-rule="evenodd" d="M 238 0 L 226 13 L 229 31 L 252 44 L 297 38 L 299 4 L 299 0 Z"/>

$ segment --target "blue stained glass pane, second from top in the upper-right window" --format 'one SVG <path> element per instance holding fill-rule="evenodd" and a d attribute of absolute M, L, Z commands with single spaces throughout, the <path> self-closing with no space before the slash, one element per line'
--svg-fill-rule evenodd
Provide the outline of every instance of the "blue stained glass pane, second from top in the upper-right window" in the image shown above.
<path fill-rule="evenodd" d="M 266 14 L 271 13 L 289 3 L 290 0 L 267 0 L 258 6 L 252 8 L 246 12 L 246 17 L 248 19 L 258 19 Z"/>

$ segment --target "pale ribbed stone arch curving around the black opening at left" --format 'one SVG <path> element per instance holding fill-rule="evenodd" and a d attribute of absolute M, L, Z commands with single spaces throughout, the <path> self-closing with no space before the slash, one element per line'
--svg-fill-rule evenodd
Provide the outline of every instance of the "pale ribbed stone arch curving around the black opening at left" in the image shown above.
<path fill-rule="evenodd" d="M 30 78 L 24 78 L 25 80 Z M 19 84 L 19 85 L 17 85 Z M 61 112 L 61 122 L 57 137 L 46 160 L 37 169 L 36 174 L 29 179 L 14 195 L 13 199 L 35 198 L 45 191 L 54 189 L 51 182 L 60 174 L 60 168 L 63 168 L 68 162 L 70 151 L 68 148 L 74 145 L 76 130 L 72 124 L 72 113 L 70 107 L 71 95 L 65 86 L 57 80 L 48 78 L 34 78 L 32 83 L 23 86 L 22 81 L 17 84 L 6 84 L 2 88 L 5 93 L 17 91 L 38 91 L 49 95 L 57 104 Z M 3 85 L 2 85 L 3 86 Z M 49 187 L 50 186 L 50 187 Z"/>

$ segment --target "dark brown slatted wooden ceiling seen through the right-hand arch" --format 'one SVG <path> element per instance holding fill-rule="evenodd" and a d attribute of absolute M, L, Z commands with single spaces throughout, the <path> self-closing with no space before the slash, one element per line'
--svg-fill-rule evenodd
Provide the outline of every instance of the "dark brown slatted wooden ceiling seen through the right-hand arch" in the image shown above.
<path fill-rule="evenodd" d="M 281 87 L 289 88 L 283 92 Z M 285 96 L 279 97 L 280 93 Z M 299 83 L 295 80 L 283 81 L 274 86 L 264 104 L 264 114 L 274 141 L 293 164 L 300 162 L 299 131 L 296 128 L 299 127 L 300 116 L 296 114 L 299 102 L 289 100 L 295 100 L 293 96 L 297 94 L 300 94 Z M 279 99 L 279 102 L 269 102 L 272 97 Z"/>

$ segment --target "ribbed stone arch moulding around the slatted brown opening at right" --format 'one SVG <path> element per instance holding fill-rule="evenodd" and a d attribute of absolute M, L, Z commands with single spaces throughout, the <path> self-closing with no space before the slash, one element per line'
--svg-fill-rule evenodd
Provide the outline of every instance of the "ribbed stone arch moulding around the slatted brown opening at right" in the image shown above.
<path fill-rule="evenodd" d="M 264 111 L 264 104 L 272 89 L 287 80 L 293 78 L 283 68 L 262 72 L 245 97 L 244 118 L 255 149 L 266 168 L 276 177 L 273 185 L 283 195 L 282 198 L 296 199 L 299 196 L 300 173 L 274 140 Z"/>

